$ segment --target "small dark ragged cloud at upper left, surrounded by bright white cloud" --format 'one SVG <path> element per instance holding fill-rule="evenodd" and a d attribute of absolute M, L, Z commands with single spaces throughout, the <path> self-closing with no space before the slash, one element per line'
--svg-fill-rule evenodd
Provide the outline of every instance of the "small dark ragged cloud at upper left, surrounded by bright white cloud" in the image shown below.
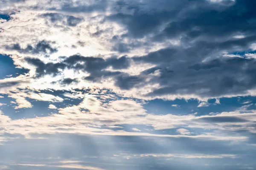
<path fill-rule="evenodd" d="M 16 50 L 20 53 L 25 54 L 52 54 L 57 52 L 57 48 L 53 48 L 50 45 L 50 42 L 46 40 L 39 41 L 34 47 L 32 45 L 27 45 L 26 48 L 21 48 L 20 44 L 13 44 L 11 46 L 6 46 L 6 49 L 8 50 Z"/>

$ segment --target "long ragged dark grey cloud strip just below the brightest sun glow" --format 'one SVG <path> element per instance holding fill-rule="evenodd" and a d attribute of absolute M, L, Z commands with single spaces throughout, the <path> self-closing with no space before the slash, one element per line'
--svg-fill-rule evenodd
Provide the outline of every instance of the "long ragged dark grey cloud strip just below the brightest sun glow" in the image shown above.
<path fill-rule="evenodd" d="M 63 70 L 73 69 L 74 71 L 84 71 L 90 73 L 90 77 L 84 77 L 84 79 L 95 80 L 100 77 L 108 77 L 117 74 L 121 74 L 119 71 L 104 71 L 105 68 L 112 67 L 113 69 L 128 68 L 130 61 L 127 57 L 102 59 L 101 57 L 83 57 L 80 55 L 73 55 L 64 58 L 62 62 L 47 63 L 45 64 L 40 59 L 25 58 L 26 62 L 35 65 L 36 77 L 42 77 L 44 75 L 56 76 L 60 74 L 60 69 Z M 67 83 L 71 82 L 71 79 L 67 79 Z M 73 81 L 73 80 L 72 80 Z"/>

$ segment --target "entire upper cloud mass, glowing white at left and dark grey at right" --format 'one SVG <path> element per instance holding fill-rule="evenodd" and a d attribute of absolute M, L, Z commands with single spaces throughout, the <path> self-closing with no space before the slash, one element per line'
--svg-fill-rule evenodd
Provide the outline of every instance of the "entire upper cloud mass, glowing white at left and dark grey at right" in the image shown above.
<path fill-rule="evenodd" d="M 27 1 L 25 3 L 30 10 L 35 9 Z M 255 61 L 248 57 L 253 54 L 256 40 L 253 36 L 255 24 L 251 21 L 255 14 L 249 15 L 253 5 L 248 0 L 218 3 L 163 0 L 144 5 L 136 1 L 78 1 L 76 4 L 61 1 L 58 6 L 47 1 L 38 3 L 41 12 L 32 14 L 20 6 L 20 13 L 12 14 L 19 20 L 3 25 L 8 31 L 2 34 L 5 40 L 1 46 L 8 49 L 1 51 L 29 55 L 24 56 L 28 63 L 19 65 L 35 67 L 37 78 L 62 75 L 62 80 L 81 81 L 76 85 L 79 88 L 85 81 L 140 99 L 254 95 L 252 68 Z M 239 11 L 239 6 L 246 10 Z M 49 9 L 51 12 L 43 12 Z M 128 12 L 129 9 L 133 10 Z M 99 14 L 90 13 L 95 11 Z M 214 22 L 209 23 L 209 20 Z M 250 24 L 245 22 L 247 20 Z M 17 34 L 29 29 L 40 34 Z M 85 38 L 81 37 L 81 32 Z M 237 38 L 237 35 L 242 37 Z M 83 42 L 84 47 L 81 48 L 78 42 Z M 236 54 L 239 51 L 246 52 Z M 39 58 L 37 54 L 46 57 Z M 61 59 L 60 56 L 70 57 Z M 70 77 L 64 74 L 66 70 L 85 75 L 83 78 Z M 61 79 L 55 78 L 55 82 Z M 61 82 L 57 85 L 61 86 Z M 67 88 L 64 86 L 61 88 Z"/>

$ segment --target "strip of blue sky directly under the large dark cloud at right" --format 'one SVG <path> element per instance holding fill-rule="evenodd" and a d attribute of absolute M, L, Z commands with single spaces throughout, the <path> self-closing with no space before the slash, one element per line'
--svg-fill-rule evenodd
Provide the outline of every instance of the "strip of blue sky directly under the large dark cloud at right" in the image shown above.
<path fill-rule="evenodd" d="M 174 115 L 188 115 L 197 112 L 197 116 L 208 115 L 209 113 L 221 113 L 235 111 L 244 105 L 256 103 L 255 96 L 239 96 L 232 98 L 219 99 L 221 104 L 216 104 L 216 99 L 209 99 L 207 102 L 209 106 L 198 107 L 200 102 L 195 99 L 175 99 L 167 101 L 162 99 L 154 99 L 148 101 L 143 107 L 148 113 L 157 115 L 174 114 Z M 256 105 L 251 105 L 248 109 L 256 109 Z"/>

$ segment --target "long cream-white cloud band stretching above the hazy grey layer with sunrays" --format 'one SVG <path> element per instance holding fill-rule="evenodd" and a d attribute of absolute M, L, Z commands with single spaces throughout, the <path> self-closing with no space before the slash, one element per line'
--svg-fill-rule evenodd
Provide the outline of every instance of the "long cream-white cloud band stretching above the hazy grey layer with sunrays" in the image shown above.
<path fill-rule="evenodd" d="M 116 105 L 115 105 L 116 104 Z M 85 111 L 88 109 L 89 111 Z M 46 117 L 35 117 L 30 119 L 12 120 L 9 116 L 0 115 L 1 127 L 5 133 L 21 134 L 26 138 L 31 138 L 30 134 L 53 134 L 53 133 L 75 133 L 75 134 L 95 134 L 95 135 L 122 135 L 122 136 L 162 136 L 162 137 L 189 137 L 203 140 L 227 140 L 227 141 L 244 141 L 247 136 L 226 135 L 224 131 L 235 131 L 239 129 L 247 129 L 252 133 L 256 130 L 250 128 L 256 120 L 254 111 L 236 111 L 223 112 L 212 116 L 196 116 L 196 115 L 155 115 L 146 113 L 140 103 L 130 100 L 119 100 L 109 103 L 102 103 L 93 95 L 87 95 L 84 100 L 73 106 L 59 108 L 59 113 Z M 211 122 L 209 119 L 218 120 L 222 117 L 235 119 L 243 119 L 241 122 Z M 225 119 L 224 119 L 225 120 Z M 177 133 L 180 135 L 160 133 L 144 133 L 140 131 L 127 132 L 125 130 L 113 130 L 112 127 L 119 125 L 147 125 L 155 130 L 179 128 Z M 235 125 L 235 127 L 234 127 Z M 98 128 L 103 127 L 105 128 Z M 212 129 L 220 131 L 212 131 L 212 133 L 200 133 L 190 136 L 190 132 L 183 127 Z M 56 128 L 58 127 L 58 128 Z M 135 130 L 135 129 L 134 129 Z M 3 130 L 0 130 L 0 134 Z M 6 139 L 7 140 L 7 139 Z"/>

